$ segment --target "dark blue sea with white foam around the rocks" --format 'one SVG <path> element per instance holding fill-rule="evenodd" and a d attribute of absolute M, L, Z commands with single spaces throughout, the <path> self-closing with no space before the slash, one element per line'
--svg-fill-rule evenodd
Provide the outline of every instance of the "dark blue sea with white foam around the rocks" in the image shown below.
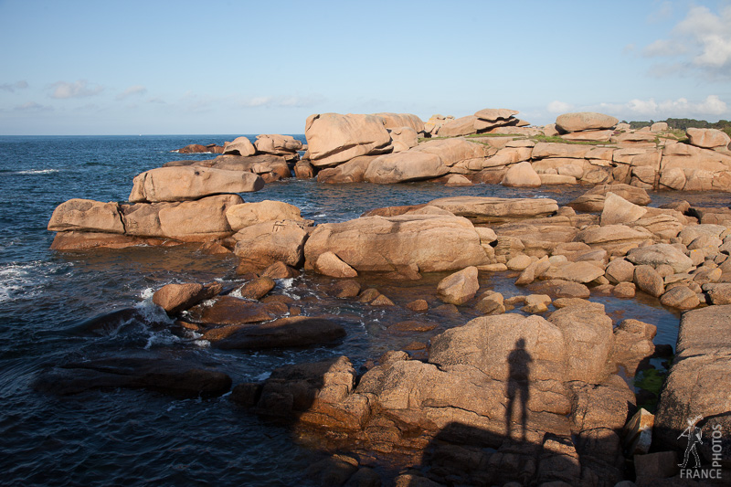
<path fill-rule="evenodd" d="M 177 154 L 175 149 L 189 143 L 223 144 L 237 136 L 0 136 L 0 484 L 309 485 L 307 468 L 332 451 L 302 440 L 287 424 L 239 408 L 230 395 L 179 399 L 115 389 L 58 397 L 37 392 L 34 381 L 54 365 L 145 351 L 195 356 L 228 373 L 236 385 L 263 380 L 281 365 L 340 355 L 363 372 L 368 361 L 388 350 L 415 341 L 428 344 L 428 335 L 387 332 L 388 323 L 409 318 L 403 306 L 385 310 L 328 298 L 323 290 L 330 281 L 304 273 L 278 281 L 273 292 L 302 302 L 304 314 L 338 319 L 347 331 L 341 343 L 256 353 L 217 350 L 161 327 L 169 320 L 152 303 L 152 294 L 171 282 L 243 282 L 232 256 L 211 256 L 186 246 L 69 253 L 49 249 L 54 234 L 47 230 L 48 219 L 60 203 L 70 198 L 126 201 L 132 178 L 143 171 L 169 161 L 215 157 Z M 304 142 L 303 135 L 295 137 Z M 379 206 L 414 205 L 442 196 L 551 197 L 565 204 L 586 190 L 434 183 L 323 185 L 291 178 L 242 197 L 290 203 L 302 210 L 302 217 L 319 224 L 355 218 Z M 652 204 L 672 197 L 653 194 Z M 398 305 L 433 294 L 441 277 L 367 284 Z M 481 275 L 481 287 L 523 294 L 514 288 L 514 278 Z M 633 301 L 596 301 L 605 304 L 616 322 L 637 318 L 656 324 L 655 342 L 674 345 L 678 314 L 657 300 L 640 296 Z M 124 309 L 134 310 L 132 318 L 90 328 L 99 317 Z M 473 316 L 470 310 L 461 311 L 430 315 L 429 320 L 439 324 L 434 333 Z M 373 466 L 385 478 L 395 473 L 388 461 Z"/>

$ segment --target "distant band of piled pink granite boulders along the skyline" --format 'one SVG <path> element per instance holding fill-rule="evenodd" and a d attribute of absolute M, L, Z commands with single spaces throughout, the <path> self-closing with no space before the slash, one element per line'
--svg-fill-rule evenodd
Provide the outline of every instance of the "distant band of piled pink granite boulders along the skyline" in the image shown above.
<path fill-rule="evenodd" d="M 305 133 L 310 159 L 298 163 L 295 172 L 334 184 L 437 180 L 449 185 L 731 189 L 731 152 L 724 132 L 689 129 L 690 143 L 678 143 L 662 132 L 614 131 L 614 117 L 581 112 L 556 119 L 567 143 L 535 142 L 530 137 L 548 134 L 550 127 L 525 128 L 515 113 L 485 109 L 452 121 L 432 117 L 426 124 L 415 115 L 397 113 L 313 115 Z M 533 132 L 516 138 L 518 129 Z M 422 131 L 449 137 L 418 143 Z M 492 136 L 464 136 L 479 132 Z M 501 136 L 504 132 L 510 133 Z"/>

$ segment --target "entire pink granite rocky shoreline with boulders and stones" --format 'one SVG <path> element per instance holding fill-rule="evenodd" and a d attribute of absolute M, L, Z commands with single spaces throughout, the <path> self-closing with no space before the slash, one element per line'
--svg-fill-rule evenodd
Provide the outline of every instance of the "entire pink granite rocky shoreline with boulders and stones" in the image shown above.
<path fill-rule="evenodd" d="M 234 386 L 240 406 L 339 452 L 308 473 L 328 485 L 378 485 L 373 467 L 381 461 L 418 467 L 397 485 L 682 484 L 677 436 L 688 418 L 708 435 L 716 426 L 724 431 L 730 478 L 731 399 L 713 385 L 731 372 L 731 208 L 691 206 L 683 193 L 650 207 L 646 191 L 731 190 L 728 137 L 689 130 L 683 143 L 666 127 L 633 132 L 591 113 L 535 128 L 515 114 L 483 110 L 427 123 L 409 114 L 313 115 L 302 158 L 291 137 L 262 135 L 254 144 L 239 137 L 214 160 L 138 175 L 128 202 L 73 199 L 50 218 L 57 250 L 193 242 L 236 255 L 243 286 L 169 284 L 154 294 L 179 333 L 223 349 L 343 339 L 344 328 L 313 313 L 316 306 L 303 310 L 272 293 L 277 280 L 316 273 L 332 278 L 334 297 L 394 307 L 401 305 L 361 282 L 445 272 L 429 296 L 403 303 L 413 319 L 400 329 L 433 330 L 423 313 L 435 302 L 443 312 L 469 308 L 480 317 L 433 334 L 424 350 L 373 357 L 365 371 L 346 356 L 290 365 L 246 384 L 195 362 L 99 357 L 45 372 L 37 389 L 196 397 Z M 296 206 L 239 196 L 292 172 L 323 183 L 594 187 L 566 206 L 452 196 L 317 226 Z M 503 272 L 516 273 L 525 293 L 481 288 L 480 275 Z M 652 343 L 655 327 L 631 318 L 615 326 L 604 306 L 588 301 L 638 291 L 685 312 L 655 417 L 637 407 L 628 384 L 649 359 L 666 355 Z M 701 454 L 710 463 L 709 446 Z"/>

